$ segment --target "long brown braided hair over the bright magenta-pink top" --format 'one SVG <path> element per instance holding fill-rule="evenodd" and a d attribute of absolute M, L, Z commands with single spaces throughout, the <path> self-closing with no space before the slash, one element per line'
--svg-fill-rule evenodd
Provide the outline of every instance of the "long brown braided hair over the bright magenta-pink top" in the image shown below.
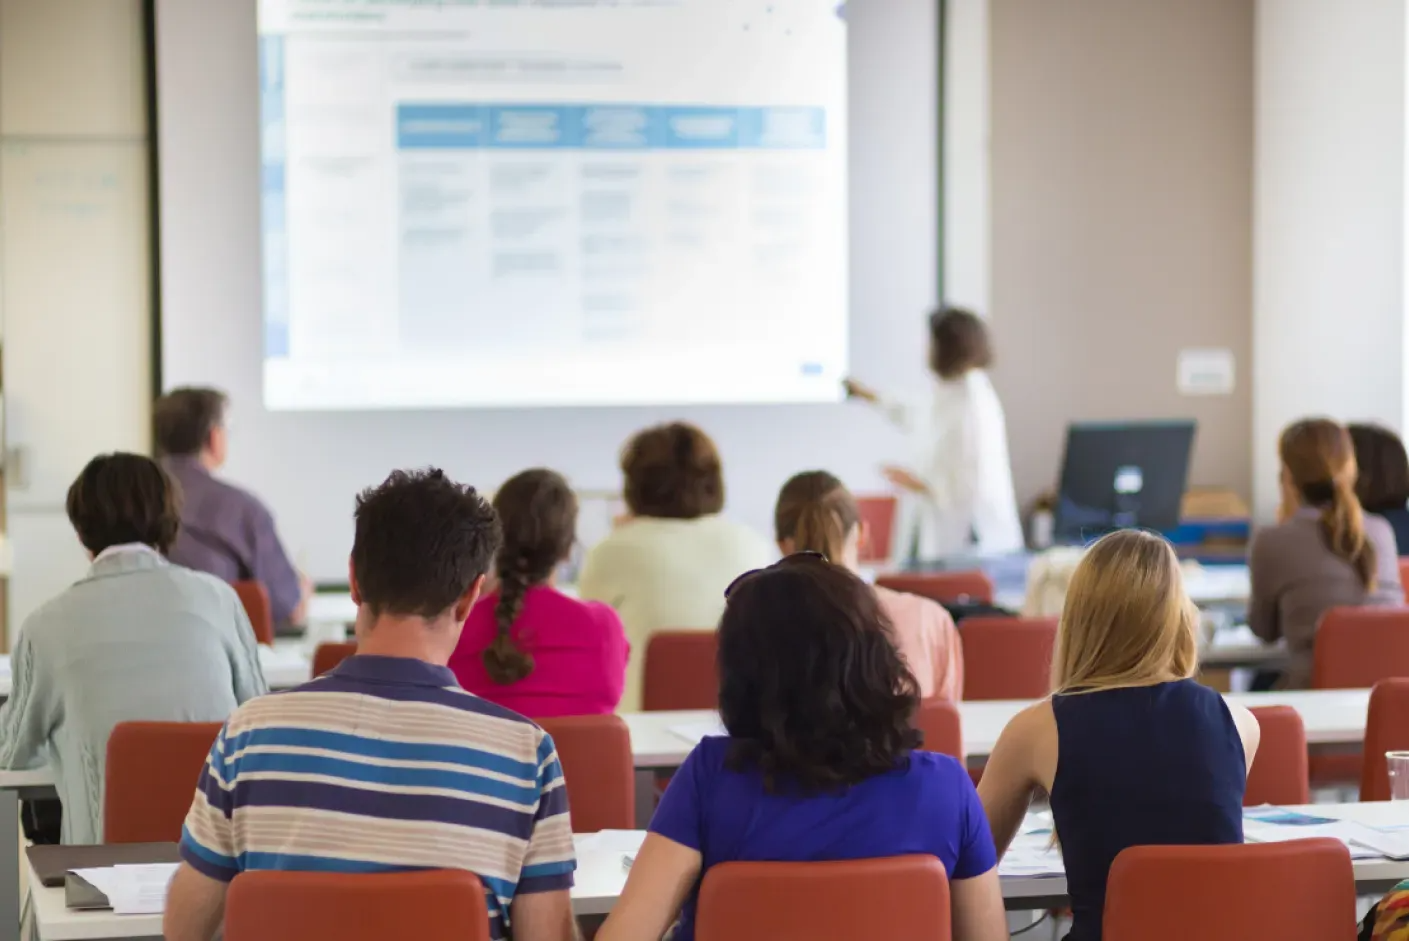
<path fill-rule="evenodd" d="M 568 558 L 578 528 L 578 497 L 554 470 L 524 470 L 495 494 L 495 511 L 504 541 L 495 556 L 499 600 L 495 603 L 495 640 L 482 659 L 489 679 L 507 686 L 533 672 L 533 654 L 514 640 L 513 627 L 528 589 L 548 580 Z"/>

